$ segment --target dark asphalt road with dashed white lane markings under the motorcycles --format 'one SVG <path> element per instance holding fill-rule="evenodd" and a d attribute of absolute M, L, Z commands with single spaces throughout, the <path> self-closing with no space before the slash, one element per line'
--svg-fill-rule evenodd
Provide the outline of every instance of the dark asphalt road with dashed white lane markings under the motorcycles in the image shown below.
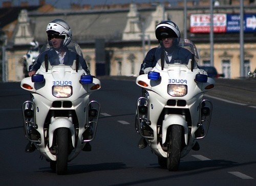
<path fill-rule="evenodd" d="M 21 105 L 29 94 L 19 83 L 0 83 L 1 186 L 256 185 L 256 115 L 250 104 L 206 95 L 214 104 L 208 135 L 199 141 L 200 151 L 181 159 L 178 172 L 169 172 L 158 165 L 150 148 L 137 148 L 135 102 L 141 89 L 134 77 L 100 79 L 102 88 L 91 96 L 101 104 L 92 151 L 81 152 L 64 176 L 56 175 L 37 151 L 24 152 Z"/>

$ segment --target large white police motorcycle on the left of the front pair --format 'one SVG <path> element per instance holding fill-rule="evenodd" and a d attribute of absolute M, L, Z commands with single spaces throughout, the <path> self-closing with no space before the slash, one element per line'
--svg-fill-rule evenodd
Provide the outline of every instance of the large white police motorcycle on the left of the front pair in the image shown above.
<path fill-rule="evenodd" d="M 100 112 L 100 104 L 90 100 L 100 81 L 81 68 L 79 45 L 68 48 L 77 52 L 72 66 L 51 66 L 45 55 L 36 74 L 20 83 L 32 97 L 22 105 L 25 137 L 57 174 L 66 174 L 68 162 L 95 138 Z"/>

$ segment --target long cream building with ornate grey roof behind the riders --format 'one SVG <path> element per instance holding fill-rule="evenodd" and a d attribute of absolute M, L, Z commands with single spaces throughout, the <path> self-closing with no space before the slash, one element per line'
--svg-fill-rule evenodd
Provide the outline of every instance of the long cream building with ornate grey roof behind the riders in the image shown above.
<path fill-rule="evenodd" d="M 194 4 L 193 4 L 194 2 Z M 197 2 L 195 4 L 195 2 Z M 208 2 L 208 3 L 207 3 Z M 230 2 L 232 3 L 231 5 Z M 239 14 L 239 1 L 215 2 L 214 14 Z M 256 5 L 244 1 L 244 12 L 253 14 Z M 161 20 L 173 20 L 187 38 L 194 41 L 200 55 L 199 65 L 210 65 L 209 33 L 191 31 L 191 15 L 208 15 L 209 1 L 187 3 L 187 28 L 184 28 L 184 5 L 138 5 L 58 10 L 51 12 L 20 11 L 17 24 L 6 49 L 7 79 L 20 81 L 24 78 L 22 57 L 29 43 L 35 39 L 40 46 L 47 42 L 46 25 L 55 18 L 66 20 L 73 31 L 73 40 L 81 46 L 93 75 L 137 76 L 146 52 L 158 46 L 155 26 Z M 254 21 L 254 22 L 253 22 Z M 244 74 L 256 68 L 256 21 L 254 31 L 244 33 Z M 214 33 L 214 66 L 225 78 L 240 77 L 239 33 Z M 98 44 L 97 44 L 98 43 Z"/>

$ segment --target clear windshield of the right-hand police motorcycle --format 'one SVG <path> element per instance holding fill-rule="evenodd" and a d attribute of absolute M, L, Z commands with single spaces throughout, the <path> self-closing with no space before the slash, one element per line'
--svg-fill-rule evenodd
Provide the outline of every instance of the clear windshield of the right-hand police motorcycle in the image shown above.
<path fill-rule="evenodd" d="M 170 65 L 185 65 L 188 69 L 195 69 L 199 61 L 196 45 L 183 38 L 161 40 L 155 56 L 159 66 L 163 68 Z"/>

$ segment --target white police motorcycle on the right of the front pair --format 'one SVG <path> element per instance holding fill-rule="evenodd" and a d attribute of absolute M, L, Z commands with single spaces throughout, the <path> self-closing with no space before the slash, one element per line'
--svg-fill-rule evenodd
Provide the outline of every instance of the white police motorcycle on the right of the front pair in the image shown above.
<path fill-rule="evenodd" d="M 180 158 L 191 149 L 199 150 L 196 144 L 207 135 L 212 111 L 212 103 L 203 96 L 215 85 L 197 66 L 195 44 L 180 39 L 179 46 L 191 52 L 188 62 L 166 64 L 162 55 L 152 71 L 136 79 L 146 90 L 136 102 L 136 131 L 169 171 L 177 171 Z"/>

